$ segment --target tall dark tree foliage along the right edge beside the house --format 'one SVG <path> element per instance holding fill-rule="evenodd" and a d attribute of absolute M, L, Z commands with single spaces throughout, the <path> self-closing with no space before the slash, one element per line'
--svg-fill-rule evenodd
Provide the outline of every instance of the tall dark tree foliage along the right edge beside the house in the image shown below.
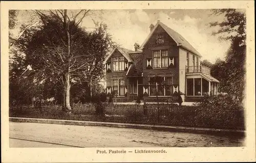
<path fill-rule="evenodd" d="M 223 22 L 212 22 L 210 26 L 218 26 L 213 35 L 220 39 L 230 40 L 231 46 L 225 62 L 217 62 L 212 71 L 221 80 L 221 90 L 236 95 L 242 101 L 245 90 L 245 57 L 246 57 L 246 15 L 238 9 L 213 10 L 216 15 L 224 15 Z M 221 70 L 221 71 L 219 71 Z M 218 72 L 224 72 L 218 74 Z"/>

